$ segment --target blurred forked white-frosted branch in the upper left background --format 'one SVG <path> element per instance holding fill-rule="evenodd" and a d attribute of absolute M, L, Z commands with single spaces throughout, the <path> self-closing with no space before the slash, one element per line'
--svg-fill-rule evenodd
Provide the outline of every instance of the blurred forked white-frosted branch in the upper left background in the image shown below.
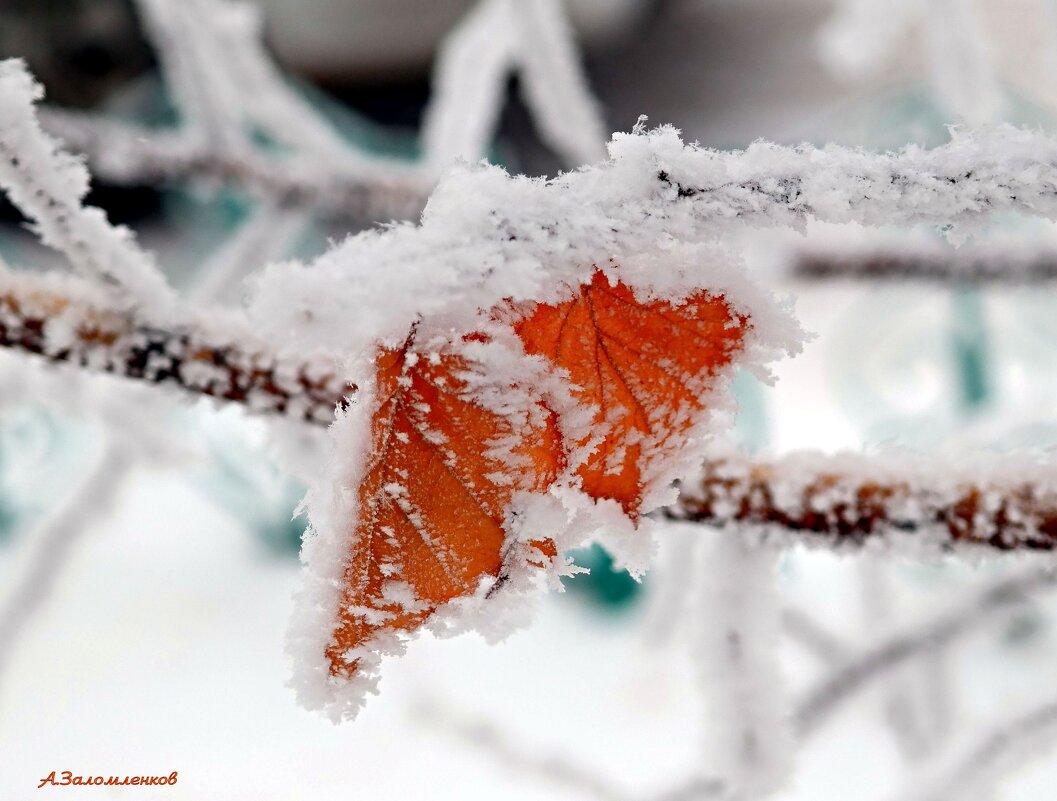
<path fill-rule="evenodd" d="M 50 110 L 47 128 L 115 183 L 236 185 L 277 205 L 340 220 L 418 217 L 434 176 L 357 151 L 284 81 L 246 3 L 140 0 L 166 82 L 184 113 L 174 131 Z M 283 146 L 264 152 L 254 135 Z"/>

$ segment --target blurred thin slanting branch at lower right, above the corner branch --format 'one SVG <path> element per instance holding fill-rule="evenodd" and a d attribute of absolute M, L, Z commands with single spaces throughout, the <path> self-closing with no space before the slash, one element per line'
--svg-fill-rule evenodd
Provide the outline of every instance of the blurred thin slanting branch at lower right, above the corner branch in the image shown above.
<path fill-rule="evenodd" d="M 999 579 L 924 626 L 898 632 L 851 657 L 810 690 L 798 705 L 796 724 L 800 734 L 813 733 L 836 707 L 870 681 L 911 658 L 948 647 L 996 615 L 1030 601 L 1034 593 L 1055 584 L 1057 569 L 1051 566 Z"/>

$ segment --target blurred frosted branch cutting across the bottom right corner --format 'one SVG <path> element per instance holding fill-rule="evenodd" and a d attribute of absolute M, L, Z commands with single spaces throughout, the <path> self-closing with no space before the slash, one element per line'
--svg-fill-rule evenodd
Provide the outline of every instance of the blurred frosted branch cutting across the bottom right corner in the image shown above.
<path fill-rule="evenodd" d="M 1057 700 L 998 724 L 960 749 L 942 770 L 920 777 L 898 801 L 989 798 L 1002 778 L 1052 748 L 1057 739 Z"/>

